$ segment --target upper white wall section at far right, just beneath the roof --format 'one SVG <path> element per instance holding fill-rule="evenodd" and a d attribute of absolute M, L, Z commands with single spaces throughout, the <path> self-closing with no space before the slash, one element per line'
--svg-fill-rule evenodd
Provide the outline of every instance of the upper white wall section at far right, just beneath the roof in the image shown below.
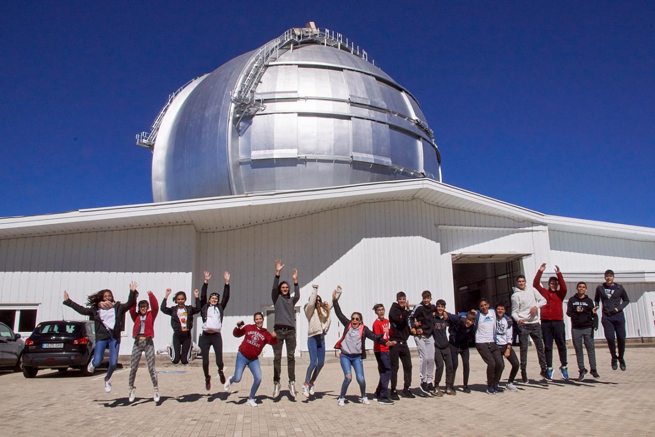
<path fill-rule="evenodd" d="M 550 231 L 553 262 L 570 272 L 655 270 L 655 243 Z"/>

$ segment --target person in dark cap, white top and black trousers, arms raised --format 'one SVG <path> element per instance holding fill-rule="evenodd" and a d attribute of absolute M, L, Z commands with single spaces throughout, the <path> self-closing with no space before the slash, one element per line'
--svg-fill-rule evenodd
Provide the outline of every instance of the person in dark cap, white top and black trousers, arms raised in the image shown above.
<path fill-rule="evenodd" d="M 210 390 L 212 388 L 212 377 L 209 375 L 209 348 L 214 348 L 214 355 L 216 357 L 216 365 L 218 366 L 218 377 L 221 379 L 221 384 L 225 384 L 225 375 L 223 375 L 223 337 L 221 336 L 221 328 L 223 327 L 223 313 L 227 301 L 230 300 L 230 273 L 225 270 L 223 278 L 225 278 L 225 287 L 223 287 L 223 300 L 219 303 L 220 295 L 212 293 L 207 301 L 207 286 L 212 275 L 205 271 L 205 281 L 202 284 L 202 291 L 200 292 L 200 317 L 202 318 L 202 335 L 198 341 L 200 351 L 202 352 L 202 370 L 205 374 L 205 388 Z"/>

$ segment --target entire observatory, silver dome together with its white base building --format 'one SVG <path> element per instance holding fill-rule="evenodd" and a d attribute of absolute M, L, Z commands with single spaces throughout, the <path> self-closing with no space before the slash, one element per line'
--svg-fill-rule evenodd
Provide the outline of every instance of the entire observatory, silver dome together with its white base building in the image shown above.
<path fill-rule="evenodd" d="M 631 301 L 630 341 L 652 341 L 655 229 L 545 215 L 444 184 L 420 97 L 313 24 L 193 79 L 137 138 L 153 150 L 155 203 L 0 218 L 0 321 L 29 335 L 37 322 L 80 318 L 62 306 L 64 290 L 77 302 L 103 288 L 124 300 L 130 280 L 141 297 L 189 295 L 203 270 L 222 293 L 229 270 L 225 326 L 263 311 L 272 327 L 281 258 L 283 280 L 299 270 L 297 310 L 312 283 L 324 299 L 340 284 L 343 310 L 371 323 L 373 304 L 388 308 L 398 291 L 418 303 L 428 289 L 449 311 L 481 296 L 509 302 L 515 276 L 531 283 L 547 262 L 544 278 L 559 265 L 569 295 L 586 281 L 593 297 L 614 270 Z M 341 329 L 333 322 L 328 346 Z M 155 331 L 156 347 L 170 343 L 168 316 Z M 131 332 L 126 318 L 126 340 Z M 302 313 L 297 335 L 307 350 Z M 225 352 L 240 343 L 229 332 L 223 341 Z M 121 354 L 131 348 L 123 341 Z"/>

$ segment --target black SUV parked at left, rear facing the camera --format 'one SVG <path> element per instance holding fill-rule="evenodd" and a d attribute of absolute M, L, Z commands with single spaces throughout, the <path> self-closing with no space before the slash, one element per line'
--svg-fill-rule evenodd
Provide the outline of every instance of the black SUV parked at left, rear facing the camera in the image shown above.
<path fill-rule="evenodd" d="M 95 322 L 56 320 L 41 322 L 25 341 L 23 375 L 33 378 L 39 369 L 57 369 L 65 372 L 68 367 L 80 369 L 83 376 L 91 375 L 86 365 L 93 358 L 96 345 Z M 107 351 L 103 362 L 107 360 Z"/>

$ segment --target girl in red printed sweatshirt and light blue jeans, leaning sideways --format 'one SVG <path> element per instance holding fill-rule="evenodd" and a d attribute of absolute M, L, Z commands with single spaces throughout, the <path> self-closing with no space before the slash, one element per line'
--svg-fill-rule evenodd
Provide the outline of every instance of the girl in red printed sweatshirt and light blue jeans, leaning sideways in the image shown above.
<path fill-rule="evenodd" d="M 255 393 L 257 393 L 257 388 L 259 388 L 259 384 L 261 384 L 259 354 L 261 354 L 261 351 L 267 344 L 274 346 L 278 343 L 276 334 L 274 332 L 271 334 L 269 331 L 263 328 L 264 314 L 261 312 L 255 312 L 254 320 L 254 325 L 244 326 L 243 321 L 236 323 L 236 327 L 233 331 L 234 337 L 245 336 L 245 338 L 241 343 L 241 346 L 239 346 L 239 351 L 236 353 L 234 375 L 229 377 L 223 386 L 225 391 L 229 392 L 230 386 L 233 383 L 238 383 L 241 381 L 241 377 L 247 365 L 253 377 L 252 388 L 250 388 L 250 396 L 248 397 L 247 402 L 251 407 L 257 406 L 257 402 L 255 401 Z"/>

